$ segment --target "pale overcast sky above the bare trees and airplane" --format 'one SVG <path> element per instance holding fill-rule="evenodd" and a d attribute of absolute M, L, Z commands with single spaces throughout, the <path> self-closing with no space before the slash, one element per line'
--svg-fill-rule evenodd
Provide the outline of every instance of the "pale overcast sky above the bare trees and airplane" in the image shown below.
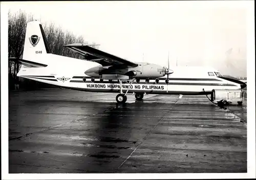
<path fill-rule="evenodd" d="M 131 61 L 167 65 L 169 51 L 170 69 L 177 58 L 178 65 L 209 65 L 224 75 L 246 76 L 247 11 L 242 3 L 6 2 L 12 13 L 20 9 L 41 22 L 54 22 Z"/>

